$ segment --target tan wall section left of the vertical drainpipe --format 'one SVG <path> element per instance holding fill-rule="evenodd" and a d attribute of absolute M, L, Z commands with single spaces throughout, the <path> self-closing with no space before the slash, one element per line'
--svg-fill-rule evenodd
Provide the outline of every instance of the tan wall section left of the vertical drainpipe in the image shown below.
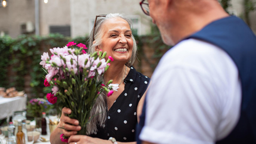
<path fill-rule="evenodd" d="M 0 31 L 8 31 L 11 37 L 20 35 L 20 25 L 28 21 L 35 23 L 34 0 L 8 0 L 0 7 Z"/>

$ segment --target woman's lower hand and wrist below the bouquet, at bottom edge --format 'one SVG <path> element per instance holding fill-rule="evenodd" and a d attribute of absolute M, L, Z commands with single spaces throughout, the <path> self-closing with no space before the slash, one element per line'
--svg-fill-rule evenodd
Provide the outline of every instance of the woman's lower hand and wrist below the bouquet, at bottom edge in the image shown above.
<path fill-rule="evenodd" d="M 113 144 L 109 140 L 92 138 L 86 135 L 73 135 L 68 139 L 69 144 Z"/>

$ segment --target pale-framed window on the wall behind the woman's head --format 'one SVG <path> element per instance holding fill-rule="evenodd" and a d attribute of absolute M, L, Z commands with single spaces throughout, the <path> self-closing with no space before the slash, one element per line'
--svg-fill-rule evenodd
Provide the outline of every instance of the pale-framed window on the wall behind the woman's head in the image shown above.
<path fill-rule="evenodd" d="M 132 20 L 132 34 L 133 35 L 141 35 L 141 24 L 140 24 L 140 16 L 139 15 L 129 15 L 127 16 Z M 94 26 L 95 18 L 89 19 L 89 33 L 91 33 L 92 28 Z"/>

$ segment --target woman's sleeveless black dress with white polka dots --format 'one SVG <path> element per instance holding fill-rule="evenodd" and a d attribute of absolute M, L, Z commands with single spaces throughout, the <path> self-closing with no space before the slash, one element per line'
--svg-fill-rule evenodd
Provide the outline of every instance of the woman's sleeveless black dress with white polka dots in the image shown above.
<path fill-rule="evenodd" d="M 137 105 L 146 91 L 150 78 L 137 72 L 131 67 L 124 79 L 124 91 L 118 96 L 108 111 L 105 127 L 98 127 L 98 132 L 92 137 L 108 140 L 113 137 L 116 141 L 135 141 L 137 121 Z"/>

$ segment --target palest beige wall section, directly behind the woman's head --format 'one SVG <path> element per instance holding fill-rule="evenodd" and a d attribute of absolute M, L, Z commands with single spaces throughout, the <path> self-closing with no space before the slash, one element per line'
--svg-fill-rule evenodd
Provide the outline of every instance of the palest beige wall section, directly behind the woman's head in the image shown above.
<path fill-rule="evenodd" d="M 150 33 L 150 17 L 140 8 L 140 0 L 70 0 L 71 6 L 71 36 L 89 35 L 89 20 L 96 15 L 108 13 L 124 13 L 126 16 L 139 15 L 141 35 Z"/>

